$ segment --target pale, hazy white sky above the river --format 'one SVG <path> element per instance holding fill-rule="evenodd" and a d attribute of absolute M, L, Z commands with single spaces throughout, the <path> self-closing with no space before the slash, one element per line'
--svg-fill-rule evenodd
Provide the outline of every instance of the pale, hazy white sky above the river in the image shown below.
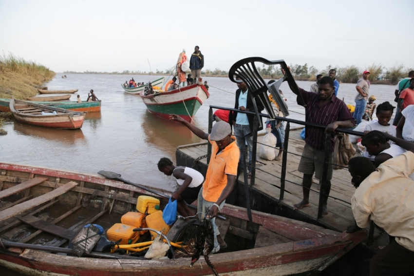
<path fill-rule="evenodd" d="M 247 57 L 324 69 L 414 67 L 413 0 L 0 0 L 0 50 L 55 72 L 204 69 Z"/>

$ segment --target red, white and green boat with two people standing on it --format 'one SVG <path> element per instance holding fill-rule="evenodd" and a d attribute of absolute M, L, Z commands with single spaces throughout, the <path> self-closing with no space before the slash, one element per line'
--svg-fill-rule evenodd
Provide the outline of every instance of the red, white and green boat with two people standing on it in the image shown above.
<path fill-rule="evenodd" d="M 183 119 L 191 122 L 192 118 L 210 97 L 207 88 L 200 84 L 191 84 L 168 92 L 155 93 L 151 95 L 140 94 L 148 110 L 162 118 L 169 118 L 170 114 L 180 115 Z"/>

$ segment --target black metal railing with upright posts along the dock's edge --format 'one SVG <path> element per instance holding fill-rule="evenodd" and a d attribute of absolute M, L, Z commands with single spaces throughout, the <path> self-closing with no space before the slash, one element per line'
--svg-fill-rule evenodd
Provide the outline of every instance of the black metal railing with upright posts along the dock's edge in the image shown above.
<path fill-rule="evenodd" d="M 222 109 L 222 110 L 228 110 L 228 111 L 236 111 L 238 113 L 245 113 L 248 115 L 253 115 L 255 116 L 254 122 L 253 122 L 253 130 L 252 130 L 252 139 L 253 139 L 253 148 L 252 148 L 252 161 L 251 161 L 251 179 L 250 179 L 250 186 L 254 186 L 255 184 L 255 175 L 256 175 L 256 151 L 257 151 L 257 132 L 258 132 L 258 119 L 256 117 L 256 113 L 255 112 L 251 112 L 251 111 L 241 111 L 239 109 L 234 109 L 234 108 L 227 108 L 227 107 L 221 107 L 221 106 L 215 106 L 215 105 L 210 105 L 210 109 L 208 111 L 208 133 L 211 132 L 211 129 L 213 127 L 213 121 L 212 121 L 212 117 L 213 117 L 213 109 Z M 262 118 L 270 118 L 269 115 L 267 114 L 263 114 L 263 113 L 259 113 L 260 119 L 262 120 Z M 325 129 L 326 126 L 325 125 L 320 125 L 320 124 L 315 124 L 315 123 L 310 123 L 310 122 L 305 122 L 305 121 L 301 121 L 301 120 L 295 120 L 295 119 L 290 119 L 290 118 L 284 118 L 284 117 L 276 117 L 277 120 L 282 120 L 286 122 L 286 127 L 285 127 L 285 134 L 284 134 L 284 141 L 283 141 L 283 154 L 282 154 L 282 171 L 281 171 L 281 177 L 280 177 L 280 182 L 281 182 L 281 187 L 280 187 L 280 197 L 279 197 L 279 201 L 282 201 L 284 198 L 284 190 L 285 190 L 285 182 L 286 182 L 286 167 L 287 167 L 287 154 L 288 154 L 288 146 L 289 146 L 289 133 L 290 133 L 290 123 L 295 123 L 295 124 L 299 124 L 299 125 L 303 125 L 303 126 L 311 126 L 311 127 L 316 127 L 316 128 L 320 128 L 320 129 Z M 336 132 L 339 133 L 345 133 L 345 134 L 349 134 L 349 135 L 356 135 L 356 136 L 363 136 L 364 134 L 362 132 L 356 132 L 353 130 L 349 130 L 349 129 L 343 129 L 343 128 L 337 128 Z M 323 196 L 324 191 L 325 191 L 325 187 L 326 187 L 326 182 L 327 182 L 327 178 L 328 178 L 328 168 L 329 168 L 329 157 L 330 157 L 330 153 L 331 153 L 331 138 L 332 138 L 332 133 L 326 133 L 325 135 L 325 144 L 324 144 L 324 159 L 323 161 L 323 171 L 322 171 L 322 178 L 320 179 L 320 192 L 319 192 L 319 205 L 318 205 L 318 217 L 317 219 L 320 219 L 322 217 L 322 207 L 323 207 Z M 210 161 L 210 156 L 211 156 L 211 144 L 208 143 L 207 145 L 207 164 Z M 333 165 L 337 165 L 337 164 L 333 164 Z M 339 165 L 337 165 L 339 166 Z M 291 182 L 291 181 L 289 181 Z M 293 182 L 292 182 L 293 183 Z M 297 184 L 297 183 L 295 183 Z M 300 184 L 298 184 L 300 185 Z M 302 185 L 301 185 L 302 186 Z M 314 190 L 311 190 L 314 191 Z M 314 191 L 316 192 L 316 191 Z M 328 197 L 331 197 L 329 195 L 325 195 Z M 335 198 L 335 197 L 333 197 Z"/>

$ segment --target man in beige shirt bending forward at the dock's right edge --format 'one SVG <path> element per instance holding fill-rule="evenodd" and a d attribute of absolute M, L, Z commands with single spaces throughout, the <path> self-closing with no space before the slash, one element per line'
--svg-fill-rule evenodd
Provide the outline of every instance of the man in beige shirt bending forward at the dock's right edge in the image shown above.
<path fill-rule="evenodd" d="M 409 273 L 414 272 L 414 181 L 408 177 L 414 172 L 414 144 L 392 139 L 408 151 L 388 159 L 377 169 L 365 157 L 352 158 L 348 164 L 357 190 L 351 199 L 356 222 L 346 232 L 366 228 L 372 220 L 390 237 L 395 237 L 371 258 L 372 276 L 413 275 Z"/>

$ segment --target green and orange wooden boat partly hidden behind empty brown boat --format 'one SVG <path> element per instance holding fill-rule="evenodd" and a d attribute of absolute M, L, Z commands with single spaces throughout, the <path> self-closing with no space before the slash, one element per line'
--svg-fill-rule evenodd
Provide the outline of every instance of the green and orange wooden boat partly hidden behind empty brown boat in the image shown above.
<path fill-rule="evenodd" d="M 37 97 L 35 97 L 37 99 Z M 101 100 L 97 101 L 31 101 L 33 103 L 44 104 L 57 108 L 63 108 L 72 111 L 86 111 L 86 112 L 99 112 L 101 111 Z M 0 111 L 10 112 L 10 99 L 0 99 Z"/>

